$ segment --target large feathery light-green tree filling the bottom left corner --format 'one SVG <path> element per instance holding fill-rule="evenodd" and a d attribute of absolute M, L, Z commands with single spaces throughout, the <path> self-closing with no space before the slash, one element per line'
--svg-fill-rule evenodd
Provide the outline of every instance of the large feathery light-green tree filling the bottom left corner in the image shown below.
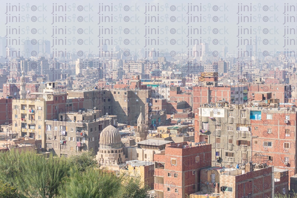
<path fill-rule="evenodd" d="M 7 168 L 7 170 L 5 170 Z M 52 198 L 70 169 L 68 160 L 35 152 L 0 153 L 0 179 L 17 187 L 21 196 Z"/>

